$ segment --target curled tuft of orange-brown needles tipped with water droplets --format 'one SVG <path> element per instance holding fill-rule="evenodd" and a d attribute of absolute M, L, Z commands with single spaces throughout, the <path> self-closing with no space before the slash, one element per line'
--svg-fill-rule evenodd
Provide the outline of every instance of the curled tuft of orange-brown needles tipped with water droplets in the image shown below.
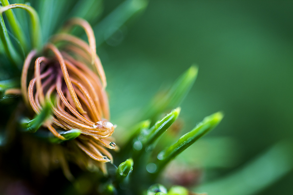
<path fill-rule="evenodd" d="M 53 43 L 45 45 L 45 55 L 35 60 L 33 78 L 30 78 L 28 86 L 28 70 L 37 55 L 35 50 L 25 59 L 21 89 L 10 89 L 7 93 L 21 92 L 25 104 L 37 114 L 40 114 L 45 102 L 48 102 L 52 115 L 44 122 L 43 127 L 62 140 L 65 138 L 59 133 L 60 130 L 78 129 L 82 135 L 70 141 L 71 145 L 76 146 L 76 150 L 83 151 L 99 162 L 113 162 L 111 153 L 105 149 L 114 149 L 109 145 L 108 139 L 114 132 L 114 126 L 107 121 L 109 105 L 105 91 L 105 72 L 96 54 L 95 38 L 90 25 L 82 19 L 72 19 L 65 26 L 65 30 L 74 25 L 84 28 L 88 43 L 65 33 L 55 35 L 52 42 L 61 43 L 60 47 L 57 48 Z M 89 68 L 90 63 L 98 74 Z M 64 174 L 72 178 L 63 151 L 56 156 Z M 89 157 L 87 158 L 90 159 Z M 97 165 L 102 171 L 106 171 L 105 165 Z"/>

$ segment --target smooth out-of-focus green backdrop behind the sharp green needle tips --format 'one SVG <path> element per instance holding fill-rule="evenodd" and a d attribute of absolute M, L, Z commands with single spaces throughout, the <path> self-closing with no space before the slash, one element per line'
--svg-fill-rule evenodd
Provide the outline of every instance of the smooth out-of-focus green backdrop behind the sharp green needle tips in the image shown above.
<path fill-rule="evenodd" d="M 105 1 L 105 14 L 119 3 Z M 112 121 L 131 122 L 126 118 L 161 87 L 197 64 L 198 78 L 182 104 L 184 131 L 223 110 L 224 120 L 206 138 L 235 142 L 234 165 L 215 174 L 233 173 L 292 137 L 292 8 L 293 1 L 150 0 L 131 27 L 98 50 Z M 291 172 L 259 195 L 292 195 L 292 182 Z"/>

